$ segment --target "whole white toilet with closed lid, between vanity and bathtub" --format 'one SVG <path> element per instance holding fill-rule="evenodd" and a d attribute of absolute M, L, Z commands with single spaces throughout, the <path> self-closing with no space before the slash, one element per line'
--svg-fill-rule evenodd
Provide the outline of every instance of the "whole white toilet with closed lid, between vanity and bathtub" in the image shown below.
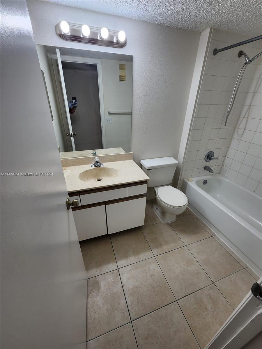
<path fill-rule="evenodd" d="M 145 159 L 140 161 L 142 170 L 150 179 L 148 187 L 154 187 L 156 200 L 153 209 L 160 220 L 171 223 L 176 215 L 184 212 L 188 205 L 187 196 L 169 185 L 172 182 L 177 161 L 172 156 Z"/>

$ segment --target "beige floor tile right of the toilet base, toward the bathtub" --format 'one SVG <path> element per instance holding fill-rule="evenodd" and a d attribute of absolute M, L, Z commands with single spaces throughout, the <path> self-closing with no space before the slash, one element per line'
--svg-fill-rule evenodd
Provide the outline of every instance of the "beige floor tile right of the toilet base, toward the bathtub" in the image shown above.
<path fill-rule="evenodd" d="M 211 236 L 192 215 L 177 218 L 171 225 L 186 245 Z"/>

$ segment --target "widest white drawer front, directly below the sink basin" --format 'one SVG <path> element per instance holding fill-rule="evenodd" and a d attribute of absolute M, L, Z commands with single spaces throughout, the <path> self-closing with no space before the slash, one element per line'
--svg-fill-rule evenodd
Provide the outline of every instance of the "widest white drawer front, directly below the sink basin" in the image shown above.
<path fill-rule="evenodd" d="M 126 185 L 110 190 L 102 190 L 101 188 L 101 191 L 90 191 L 87 194 L 80 194 L 80 198 L 81 205 L 126 198 Z"/>

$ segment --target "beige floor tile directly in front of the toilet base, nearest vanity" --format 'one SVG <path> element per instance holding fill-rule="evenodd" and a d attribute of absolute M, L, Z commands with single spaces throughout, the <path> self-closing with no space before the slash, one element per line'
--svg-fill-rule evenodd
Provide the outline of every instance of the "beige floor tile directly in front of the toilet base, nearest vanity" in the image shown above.
<path fill-rule="evenodd" d="M 148 225 L 148 227 L 143 227 L 142 231 L 154 255 L 184 246 L 183 241 L 170 224 L 161 222 Z"/>

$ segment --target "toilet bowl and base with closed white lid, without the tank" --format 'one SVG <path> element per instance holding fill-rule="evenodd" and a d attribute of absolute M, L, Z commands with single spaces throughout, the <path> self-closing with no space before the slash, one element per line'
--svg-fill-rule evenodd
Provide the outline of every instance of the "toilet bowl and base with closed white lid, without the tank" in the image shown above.
<path fill-rule="evenodd" d="M 176 215 L 184 212 L 188 205 L 187 196 L 171 185 L 154 187 L 156 200 L 153 209 L 164 223 L 176 221 Z"/>

